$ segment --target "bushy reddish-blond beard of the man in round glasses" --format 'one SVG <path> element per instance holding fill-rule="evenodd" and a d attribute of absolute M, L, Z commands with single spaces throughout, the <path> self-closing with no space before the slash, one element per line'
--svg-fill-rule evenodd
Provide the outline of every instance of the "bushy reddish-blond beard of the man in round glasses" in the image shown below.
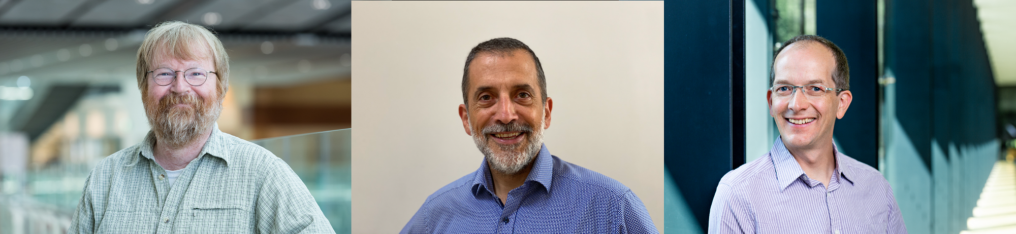
<path fill-rule="evenodd" d="M 221 101 L 205 101 L 197 95 L 167 93 L 156 101 L 144 99 L 144 112 L 148 125 L 158 139 L 170 149 L 180 149 L 211 131 L 223 111 Z M 190 106 L 176 106 L 189 104 Z"/>

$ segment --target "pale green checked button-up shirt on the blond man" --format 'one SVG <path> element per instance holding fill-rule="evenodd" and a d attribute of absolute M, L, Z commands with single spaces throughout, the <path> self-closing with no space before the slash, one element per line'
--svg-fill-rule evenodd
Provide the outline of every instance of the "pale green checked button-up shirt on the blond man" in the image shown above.
<path fill-rule="evenodd" d="M 212 129 L 172 186 L 152 158 L 151 132 L 103 159 L 68 233 L 335 233 L 285 162 Z"/>

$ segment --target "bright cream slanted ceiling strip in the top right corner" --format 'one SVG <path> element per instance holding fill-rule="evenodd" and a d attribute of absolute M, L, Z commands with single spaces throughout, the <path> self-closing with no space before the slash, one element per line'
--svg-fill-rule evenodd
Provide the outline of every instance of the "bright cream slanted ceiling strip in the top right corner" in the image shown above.
<path fill-rule="evenodd" d="M 973 0 L 999 86 L 1016 86 L 1016 1 Z"/>

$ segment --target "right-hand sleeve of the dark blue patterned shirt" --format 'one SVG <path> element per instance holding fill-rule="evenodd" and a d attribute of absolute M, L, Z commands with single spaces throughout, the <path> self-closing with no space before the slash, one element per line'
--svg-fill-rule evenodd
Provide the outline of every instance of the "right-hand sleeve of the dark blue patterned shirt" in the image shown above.
<path fill-rule="evenodd" d="M 619 222 L 618 233 L 659 233 L 656 225 L 652 223 L 652 218 L 649 217 L 649 212 L 645 210 L 642 200 L 635 192 L 632 192 L 631 189 L 622 194 L 621 200 L 615 204 L 621 205 L 618 209 L 621 221 Z"/>

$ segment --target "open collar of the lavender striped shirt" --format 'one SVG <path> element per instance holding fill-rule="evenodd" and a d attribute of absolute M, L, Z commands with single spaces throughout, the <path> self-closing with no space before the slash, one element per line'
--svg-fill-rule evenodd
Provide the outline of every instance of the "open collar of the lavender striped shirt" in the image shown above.
<path fill-rule="evenodd" d="M 793 155 L 790 155 L 790 151 L 786 149 L 785 145 L 783 145 L 782 138 L 783 137 L 777 137 L 776 142 L 772 144 L 772 149 L 769 150 L 773 166 L 776 168 L 776 180 L 779 182 L 780 191 L 786 189 L 786 187 L 789 186 L 795 179 L 803 179 L 803 176 L 805 175 L 805 170 L 801 168 L 801 164 L 798 164 L 798 161 L 793 159 Z M 847 174 L 853 174 L 849 171 L 851 167 L 842 166 L 843 158 L 846 157 L 846 155 L 840 153 L 839 150 L 836 149 L 836 143 L 833 143 L 832 145 L 832 152 L 836 157 L 836 167 L 833 169 L 833 172 L 839 173 L 841 178 L 846 178 L 850 184 L 853 184 L 853 180 L 850 180 L 850 178 L 847 177 Z M 805 183 L 808 183 L 808 181 L 805 181 Z M 814 186 L 816 184 L 809 185 Z"/>

